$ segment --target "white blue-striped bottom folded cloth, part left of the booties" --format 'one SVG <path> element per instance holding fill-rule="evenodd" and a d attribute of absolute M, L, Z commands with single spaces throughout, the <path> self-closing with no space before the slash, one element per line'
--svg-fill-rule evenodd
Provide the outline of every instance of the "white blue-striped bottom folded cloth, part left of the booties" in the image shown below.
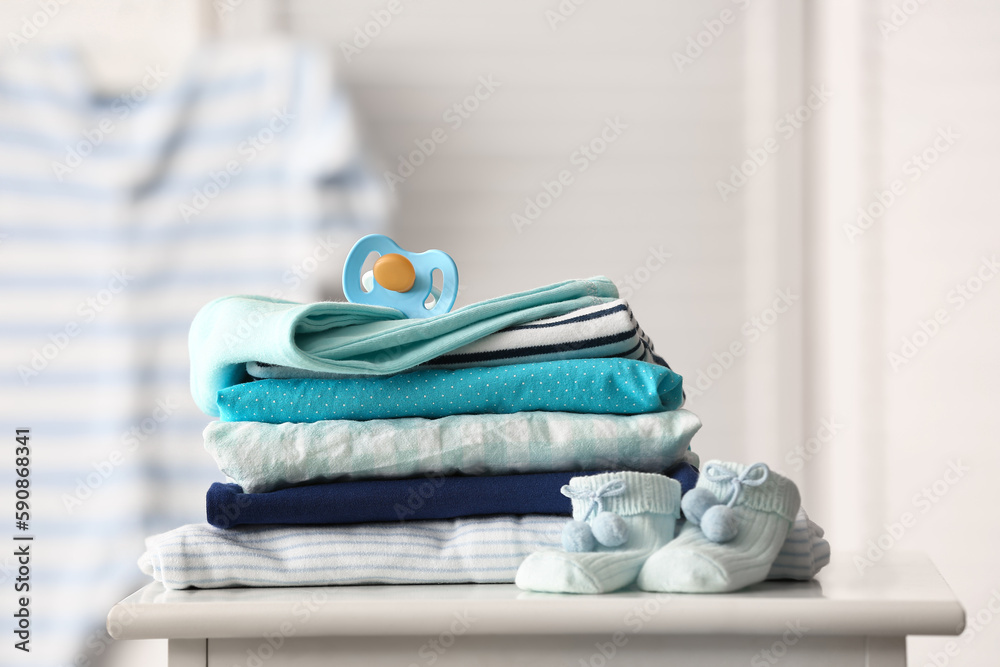
<path fill-rule="evenodd" d="M 146 540 L 139 569 L 167 588 L 503 583 L 559 543 L 566 517 L 357 526 L 189 524 Z"/>

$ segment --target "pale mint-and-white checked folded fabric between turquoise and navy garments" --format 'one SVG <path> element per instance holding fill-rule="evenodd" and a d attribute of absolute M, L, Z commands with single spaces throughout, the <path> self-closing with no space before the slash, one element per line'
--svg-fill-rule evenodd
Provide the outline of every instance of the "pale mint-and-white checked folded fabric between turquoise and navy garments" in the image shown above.
<path fill-rule="evenodd" d="M 205 449 L 248 493 L 307 482 L 420 475 L 637 470 L 689 451 L 701 421 L 687 410 L 642 415 L 519 412 L 311 424 L 211 422 Z"/>

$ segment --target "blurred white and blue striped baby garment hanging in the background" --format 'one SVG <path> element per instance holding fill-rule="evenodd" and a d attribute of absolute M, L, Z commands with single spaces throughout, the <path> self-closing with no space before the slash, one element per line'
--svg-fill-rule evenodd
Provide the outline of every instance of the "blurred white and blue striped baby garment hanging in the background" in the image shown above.
<path fill-rule="evenodd" d="M 102 654 L 143 538 L 198 518 L 222 479 L 188 391 L 198 308 L 315 300 L 379 227 L 335 83 L 280 43 L 153 63 L 110 97 L 71 51 L 0 59 L 0 432 L 31 429 L 32 664 Z M 15 571 L 0 556 L 0 578 Z"/>

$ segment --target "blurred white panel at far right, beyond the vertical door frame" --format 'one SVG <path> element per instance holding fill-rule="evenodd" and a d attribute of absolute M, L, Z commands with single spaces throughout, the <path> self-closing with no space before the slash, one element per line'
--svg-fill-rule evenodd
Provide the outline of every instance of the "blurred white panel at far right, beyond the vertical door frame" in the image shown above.
<path fill-rule="evenodd" d="M 888 19 L 892 3 L 880 5 L 879 18 Z M 871 200 L 876 188 L 896 179 L 905 184 L 874 223 L 885 239 L 880 518 L 917 517 L 898 548 L 928 552 L 970 618 L 950 664 L 986 666 L 1000 656 L 1000 520 L 993 513 L 1000 470 L 1000 267 L 987 268 L 1000 259 L 1000 6 L 961 0 L 918 7 L 898 31 L 885 39 L 876 33 L 884 60 L 883 159 L 863 193 Z M 948 128 L 957 135 L 951 146 L 938 139 Z M 935 157 L 941 148 L 946 152 Z M 856 245 L 866 240 L 867 234 Z M 935 332 L 926 323 L 942 311 L 946 319 Z M 932 335 L 924 338 L 924 328 Z M 887 355 L 902 356 L 904 338 L 915 355 L 905 364 L 896 360 L 894 370 Z M 968 467 L 961 476 L 949 472 L 959 461 Z M 864 539 L 884 530 L 879 525 Z M 911 664 L 931 661 L 944 646 L 944 639 L 912 641 Z"/>

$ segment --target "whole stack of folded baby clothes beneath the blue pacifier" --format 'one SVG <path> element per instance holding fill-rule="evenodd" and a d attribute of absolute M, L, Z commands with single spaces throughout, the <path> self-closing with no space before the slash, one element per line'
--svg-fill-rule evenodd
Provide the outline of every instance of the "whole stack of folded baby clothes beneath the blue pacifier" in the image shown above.
<path fill-rule="evenodd" d="M 209 525 L 150 538 L 140 567 L 168 588 L 512 582 L 533 552 L 628 539 L 567 528 L 621 475 L 676 521 L 701 424 L 617 297 L 568 281 L 423 320 L 212 302 L 192 392 L 221 417 L 205 446 L 232 483 L 210 489 Z"/>

